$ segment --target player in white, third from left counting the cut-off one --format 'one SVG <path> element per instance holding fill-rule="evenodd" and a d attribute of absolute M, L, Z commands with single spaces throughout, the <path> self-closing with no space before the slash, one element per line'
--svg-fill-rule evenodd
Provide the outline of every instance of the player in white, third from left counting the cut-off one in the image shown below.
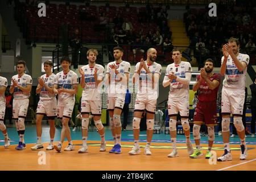
<path fill-rule="evenodd" d="M 44 115 L 47 115 L 49 122 L 49 135 L 50 143 L 46 150 L 53 150 L 53 139 L 55 135 L 55 117 L 57 115 L 57 100 L 55 93 L 53 92 L 53 84 L 55 80 L 55 74 L 52 73 L 52 61 L 47 60 L 44 62 L 44 71 L 46 74 L 38 78 L 38 87 L 36 88 L 36 93 L 40 93 L 40 100 L 38 102 L 38 107 L 36 109 L 36 134 L 38 141 L 34 147 L 31 147 L 31 150 L 38 150 L 44 148 L 42 144 L 42 120 Z"/>

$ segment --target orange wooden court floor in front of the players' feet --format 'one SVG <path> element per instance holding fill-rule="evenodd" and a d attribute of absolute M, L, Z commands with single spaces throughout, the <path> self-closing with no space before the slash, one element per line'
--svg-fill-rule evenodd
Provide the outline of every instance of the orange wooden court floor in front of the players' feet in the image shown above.
<path fill-rule="evenodd" d="M 122 142 L 122 154 L 109 154 L 113 143 L 108 142 L 107 151 L 100 152 L 100 143 L 96 141 L 89 141 L 89 152 L 86 154 L 78 154 L 77 150 L 81 147 L 81 140 L 75 140 L 76 150 L 70 152 L 56 152 L 55 150 L 46 151 L 31 151 L 30 147 L 34 144 L 27 144 L 27 149 L 23 151 L 16 151 L 16 145 L 10 146 L 9 149 L 0 146 L 1 165 L 0 170 L 92 170 L 92 171 L 105 171 L 105 170 L 256 170 L 256 146 L 247 145 L 248 158 L 247 160 L 240 160 L 240 146 L 230 145 L 232 148 L 233 160 L 230 162 L 217 162 L 217 164 L 209 164 L 209 160 L 203 158 L 190 159 L 187 154 L 185 144 L 177 144 L 179 157 L 167 158 L 171 152 L 170 143 L 152 143 L 151 156 L 143 154 L 142 148 L 141 155 L 130 156 L 127 152 L 133 146 L 132 142 Z M 64 146 L 65 146 L 64 142 Z M 144 147 L 141 143 L 141 147 Z M 48 143 L 44 143 L 46 148 Z M 203 153 L 206 153 L 207 144 L 202 144 Z M 204 148 L 205 147 L 205 148 Z M 222 144 L 214 144 L 213 151 L 216 151 L 217 157 L 223 154 Z M 45 152 L 45 153 L 44 153 Z M 46 164 L 43 163 L 43 155 L 46 156 Z"/>

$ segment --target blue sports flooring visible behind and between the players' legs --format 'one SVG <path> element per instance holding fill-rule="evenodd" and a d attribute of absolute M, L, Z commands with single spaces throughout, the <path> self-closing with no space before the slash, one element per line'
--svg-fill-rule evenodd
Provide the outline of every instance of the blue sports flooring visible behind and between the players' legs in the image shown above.
<path fill-rule="evenodd" d="M 7 126 L 7 132 L 9 135 L 9 138 L 11 139 L 11 144 L 18 144 L 19 137 L 18 133 L 16 132 L 15 125 L 6 125 Z M 128 127 L 129 128 L 129 127 Z M 71 137 L 72 140 L 81 140 L 81 127 L 80 130 L 77 129 L 76 131 L 72 131 L 71 129 Z M 43 133 L 42 133 L 42 142 L 49 142 L 49 126 L 44 123 L 43 124 Z M 54 141 L 60 140 L 60 133 L 61 128 L 56 128 L 55 132 L 55 138 Z M 0 146 L 3 146 L 4 144 L 4 137 L 3 134 L 0 134 Z M 36 143 L 36 126 L 32 125 L 31 123 L 26 123 L 26 131 L 25 131 L 25 143 Z M 105 126 L 105 139 L 106 141 L 113 141 L 111 130 L 108 126 Z M 146 142 L 146 131 L 141 131 L 140 133 L 140 142 Z M 66 139 L 67 140 L 67 139 Z M 95 127 L 94 131 L 89 131 L 88 133 L 88 140 L 100 140 L 100 135 L 97 133 Z M 191 140 L 192 143 L 195 143 L 193 140 L 193 135 L 191 133 Z M 122 141 L 123 142 L 133 142 L 133 131 L 127 130 L 122 131 Z M 152 138 L 152 143 L 171 143 L 170 141 L 170 134 L 154 134 Z M 185 137 L 184 134 L 177 134 L 177 143 L 185 143 Z M 201 143 L 208 143 L 208 137 L 204 137 L 201 135 Z M 219 136 L 217 133 L 215 134 L 215 141 L 216 144 L 221 144 L 222 142 L 222 136 Z M 247 144 L 256 144 L 256 137 L 251 138 L 251 135 L 247 135 L 246 138 Z M 240 138 L 238 135 L 234 138 L 230 138 L 230 144 L 240 144 Z"/>

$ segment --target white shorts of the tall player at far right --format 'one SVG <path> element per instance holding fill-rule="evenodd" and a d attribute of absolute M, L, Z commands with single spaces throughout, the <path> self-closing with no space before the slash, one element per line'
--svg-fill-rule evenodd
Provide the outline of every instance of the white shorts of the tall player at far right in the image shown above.
<path fill-rule="evenodd" d="M 245 90 L 229 90 L 222 88 L 221 92 L 221 113 L 222 114 L 243 114 L 245 102 Z"/>

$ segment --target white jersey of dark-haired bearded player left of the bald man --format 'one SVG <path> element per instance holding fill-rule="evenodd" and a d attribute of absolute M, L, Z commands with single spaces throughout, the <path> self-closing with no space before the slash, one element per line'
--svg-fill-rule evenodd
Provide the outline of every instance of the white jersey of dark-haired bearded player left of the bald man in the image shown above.
<path fill-rule="evenodd" d="M 122 76 L 125 76 L 125 73 L 130 73 L 131 65 L 127 61 L 122 61 L 121 63 L 115 63 L 115 61 L 110 62 L 106 67 L 106 73 L 110 73 L 111 69 L 109 66 L 113 64 L 115 65 L 115 68 L 117 68 L 117 71 L 122 74 Z M 114 73 L 110 79 L 115 80 L 116 76 L 117 75 L 115 75 Z M 117 78 L 117 80 L 119 79 Z M 112 82 L 110 81 L 109 84 L 112 84 Z M 117 89 L 117 90 L 113 91 L 112 90 L 113 87 L 111 88 L 109 87 L 108 97 L 114 97 L 115 93 L 124 93 L 124 94 L 126 93 L 126 87 L 127 87 L 126 85 L 124 86 L 122 85 L 122 82 L 118 82 L 118 81 L 115 81 L 114 84 L 115 84 L 114 89 Z"/>

